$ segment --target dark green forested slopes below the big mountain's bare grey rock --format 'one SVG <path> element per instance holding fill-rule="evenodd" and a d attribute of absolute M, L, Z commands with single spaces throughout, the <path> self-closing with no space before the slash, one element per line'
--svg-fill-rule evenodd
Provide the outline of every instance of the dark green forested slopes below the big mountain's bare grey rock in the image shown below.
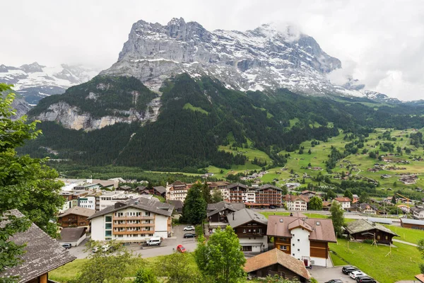
<path fill-rule="evenodd" d="M 105 86 L 105 80 L 119 82 L 114 84 L 115 91 L 107 92 L 104 100 L 90 100 L 93 104 L 86 105 L 88 93 L 98 89 L 100 81 Z M 41 100 L 30 114 L 37 115 L 50 104 L 64 100 L 78 105 L 83 112 L 101 116 L 108 109 L 102 105 L 119 108 L 131 104 L 125 99 L 117 102 L 114 99 L 119 93 L 135 89 L 143 94 L 139 96 L 139 99 L 143 97 L 139 100 L 140 108 L 155 97 L 155 93 L 134 78 L 96 77 L 69 88 L 62 96 Z M 163 106 L 156 122 L 143 127 L 135 123 L 114 125 L 92 132 L 42 122 L 43 136 L 31 141 L 21 152 L 45 156 L 49 151 L 53 156 L 52 149 L 57 151 L 55 158 L 69 158 L 91 166 L 114 164 L 196 172 L 207 166 L 230 168 L 252 163 L 252 156 L 247 154 L 250 157 L 247 160 L 237 148 L 263 151 L 273 166 L 283 166 L 286 160 L 283 154 L 278 154 L 281 151 L 299 149 L 307 140 L 326 141 L 340 130 L 367 134 L 376 127 L 404 129 L 424 125 L 421 116 L 424 107 L 418 104 L 382 105 L 363 98 L 306 97 L 286 90 L 244 93 L 229 90 L 211 78 L 195 80 L 187 74 L 165 81 L 160 91 Z M 228 150 L 228 146 L 237 150 Z"/>

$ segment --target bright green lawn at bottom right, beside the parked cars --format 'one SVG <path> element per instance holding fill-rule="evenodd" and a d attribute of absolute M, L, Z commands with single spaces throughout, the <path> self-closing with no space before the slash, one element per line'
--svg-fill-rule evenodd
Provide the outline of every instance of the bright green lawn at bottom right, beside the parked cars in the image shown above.
<path fill-rule="evenodd" d="M 395 243 L 397 248 L 388 246 L 371 246 L 365 243 L 349 243 L 338 240 L 338 244 L 330 243 L 330 250 L 337 253 L 347 263 L 343 263 L 336 255 L 331 254 L 331 259 L 336 265 L 351 264 L 359 267 L 365 273 L 374 277 L 379 282 L 394 283 L 399 280 L 413 280 L 420 273 L 418 263 L 423 262 L 420 253 L 413 246 Z"/>

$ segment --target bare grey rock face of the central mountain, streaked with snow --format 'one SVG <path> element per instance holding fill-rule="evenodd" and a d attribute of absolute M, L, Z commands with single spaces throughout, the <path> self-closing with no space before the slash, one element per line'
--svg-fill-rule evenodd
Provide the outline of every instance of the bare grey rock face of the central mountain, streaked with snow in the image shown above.
<path fill-rule="evenodd" d="M 134 23 L 119 59 L 100 74 L 135 76 L 152 88 L 187 72 L 213 76 L 242 91 L 288 88 L 301 93 L 337 92 L 326 74 L 341 62 L 308 35 L 273 25 L 254 30 L 215 30 L 174 18 L 167 25 Z M 342 89 L 344 91 L 344 89 Z"/>

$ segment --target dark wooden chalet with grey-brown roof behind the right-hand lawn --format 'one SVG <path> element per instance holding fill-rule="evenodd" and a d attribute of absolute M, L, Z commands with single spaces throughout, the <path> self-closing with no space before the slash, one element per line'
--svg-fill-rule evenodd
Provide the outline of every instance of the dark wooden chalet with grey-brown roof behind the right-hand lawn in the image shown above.
<path fill-rule="evenodd" d="M 375 239 L 377 243 L 384 244 L 392 243 L 391 238 L 398 236 L 390 229 L 365 219 L 349 222 L 346 226 L 346 232 L 355 240 L 363 241 Z"/>

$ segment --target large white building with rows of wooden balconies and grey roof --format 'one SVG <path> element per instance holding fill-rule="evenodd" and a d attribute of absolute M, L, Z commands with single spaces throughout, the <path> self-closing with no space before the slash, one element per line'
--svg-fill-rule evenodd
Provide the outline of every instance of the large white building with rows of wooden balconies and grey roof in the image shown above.
<path fill-rule="evenodd" d="M 91 220 L 91 238 L 126 243 L 140 243 L 151 237 L 167 238 L 172 232 L 173 210 L 172 204 L 156 198 L 116 202 L 88 218 Z"/>

